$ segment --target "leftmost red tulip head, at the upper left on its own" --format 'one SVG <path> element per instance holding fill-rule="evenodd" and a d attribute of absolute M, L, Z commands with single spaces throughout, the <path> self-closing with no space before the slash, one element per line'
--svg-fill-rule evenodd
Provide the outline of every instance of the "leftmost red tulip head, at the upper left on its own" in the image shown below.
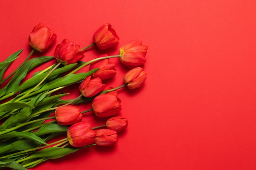
<path fill-rule="evenodd" d="M 43 52 L 56 40 L 57 35 L 42 23 L 35 26 L 29 35 L 29 44 L 37 51 Z"/>

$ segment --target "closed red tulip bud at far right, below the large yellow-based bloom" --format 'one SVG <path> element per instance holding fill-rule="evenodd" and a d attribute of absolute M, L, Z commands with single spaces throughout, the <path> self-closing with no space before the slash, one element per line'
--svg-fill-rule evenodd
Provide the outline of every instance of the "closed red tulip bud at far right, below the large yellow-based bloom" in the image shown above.
<path fill-rule="evenodd" d="M 141 67 L 133 68 L 124 75 L 124 82 L 130 89 L 140 87 L 146 80 L 146 72 Z"/>

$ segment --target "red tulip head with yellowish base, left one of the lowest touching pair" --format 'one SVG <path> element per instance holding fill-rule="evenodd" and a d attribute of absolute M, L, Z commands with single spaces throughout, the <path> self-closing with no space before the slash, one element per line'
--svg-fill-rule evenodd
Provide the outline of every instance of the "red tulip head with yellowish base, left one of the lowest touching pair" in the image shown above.
<path fill-rule="evenodd" d="M 67 130 L 67 140 L 71 146 L 83 147 L 93 144 L 96 133 L 91 129 L 90 121 L 81 121 L 76 123 Z"/>

